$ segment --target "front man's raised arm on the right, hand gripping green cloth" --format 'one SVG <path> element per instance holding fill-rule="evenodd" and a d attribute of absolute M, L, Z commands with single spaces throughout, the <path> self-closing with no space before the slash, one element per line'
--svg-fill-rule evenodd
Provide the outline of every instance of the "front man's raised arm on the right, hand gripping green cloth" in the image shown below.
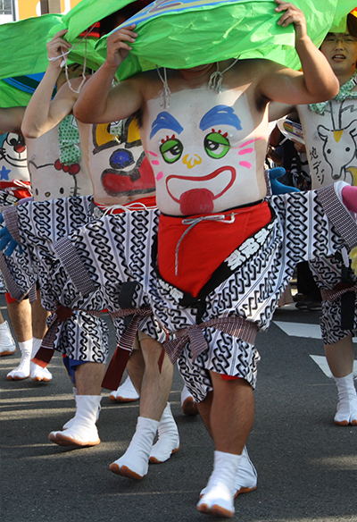
<path fill-rule="evenodd" d="M 303 72 L 278 66 L 272 73 L 268 67 L 262 79 L 261 90 L 265 97 L 289 105 L 311 104 L 335 97 L 339 90 L 338 80 L 327 59 L 313 45 L 306 31 L 303 12 L 294 4 L 275 0 L 276 11 L 282 13 L 278 24 L 295 25 L 295 48 L 303 66 Z"/>

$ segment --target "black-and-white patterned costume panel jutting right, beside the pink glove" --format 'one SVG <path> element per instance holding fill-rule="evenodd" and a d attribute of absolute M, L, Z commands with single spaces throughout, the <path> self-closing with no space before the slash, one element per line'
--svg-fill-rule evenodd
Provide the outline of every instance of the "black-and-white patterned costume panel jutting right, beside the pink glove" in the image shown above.
<path fill-rule="evenodd" d="M 284 230 L 286 263 L 332 256 L 344 246 L 357 244 L 357 223 L 334 185 L 273 196 L 271 205 Z"/>

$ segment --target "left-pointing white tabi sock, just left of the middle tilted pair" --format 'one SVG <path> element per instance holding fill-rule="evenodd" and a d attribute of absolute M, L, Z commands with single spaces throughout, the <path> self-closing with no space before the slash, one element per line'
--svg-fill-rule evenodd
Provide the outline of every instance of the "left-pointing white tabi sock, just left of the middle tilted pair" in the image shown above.
<path fill-rule="evenodd" d="M 76 415 L 71 425 L 62 432 L 51 432 L 50 441 L 59 446 L 95 446 L 100 438 L 96 429 L 96 415 L 102 397 L 100 395 L 77 395 Z"/>

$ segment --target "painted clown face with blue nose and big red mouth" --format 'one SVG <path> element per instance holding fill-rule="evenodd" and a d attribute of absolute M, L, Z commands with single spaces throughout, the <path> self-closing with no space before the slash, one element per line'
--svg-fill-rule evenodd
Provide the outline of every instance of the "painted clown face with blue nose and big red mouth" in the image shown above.
<path fill-rule="evenodd" d="M 126 201 L 154 194 L 154 172 L 141 145 L 137 119 L 93 125 L 91 139 L 88 162 L 95 198 L 109 203 L 111 198 Z"/>

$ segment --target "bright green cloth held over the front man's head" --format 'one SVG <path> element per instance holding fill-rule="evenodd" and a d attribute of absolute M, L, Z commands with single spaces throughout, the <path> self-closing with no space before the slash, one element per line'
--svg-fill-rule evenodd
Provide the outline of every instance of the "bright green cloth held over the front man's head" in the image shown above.
<path fill-rule="evenodd" d="M 345 16 L 356 0 L 295 0 L 307 21 L 308 33 L 320 46 L 331 27 L 345 30 Z M 138 37 L 117 72 L 119 80 L 157 66 L 189 68 L 228 58 L 267 58 L 294 69 L 293 25 L 278 25 L 273 0 L 155 0 L 120 27 L 136 23 Z M 117 30 L 117 29 L 115 29 Z M 106 54 L 106 37 L 96 49 Z"/>

